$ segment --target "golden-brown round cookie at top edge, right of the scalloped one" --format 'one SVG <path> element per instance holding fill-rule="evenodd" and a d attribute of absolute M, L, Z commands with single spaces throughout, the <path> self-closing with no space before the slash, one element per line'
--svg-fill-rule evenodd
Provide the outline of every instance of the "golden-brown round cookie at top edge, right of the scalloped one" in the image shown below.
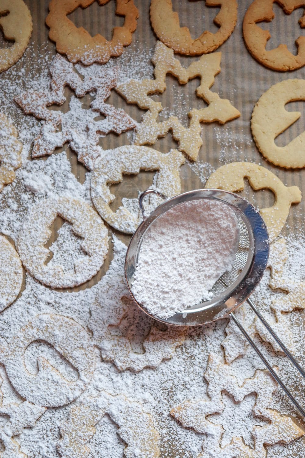
<path fill-rule="evenodd" d="M 220 6 L 214 18 L 219 26 L 216 33 L 205 30 L 193 40 L 188 27 L 180 27 L 179 16 L 173 11 L 171 0 L 151 0 L 150 21 L 157 37 L 176 53 L 201 55 L 219 48 L 233 32 L 237 22 L 236 0 L 206 0 L 206 6 Z"/>

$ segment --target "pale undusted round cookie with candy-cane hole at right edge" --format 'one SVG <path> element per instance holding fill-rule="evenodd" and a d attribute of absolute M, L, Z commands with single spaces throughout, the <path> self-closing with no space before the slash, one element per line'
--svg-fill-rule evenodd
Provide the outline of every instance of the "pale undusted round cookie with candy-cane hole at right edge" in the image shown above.
<path fill-rule="evenodd" d="M 305 100 L 305 80 L 281 81 L 262 94 L 251 118 L 251 131 L 259 151 L 268 161 L 286 169 L 305 167 L 305 132 L 284 147 L 278 147 L 274 142 L 300 118 L 299 111 L 285 109 L 288 102 L 295 100 Z"/>

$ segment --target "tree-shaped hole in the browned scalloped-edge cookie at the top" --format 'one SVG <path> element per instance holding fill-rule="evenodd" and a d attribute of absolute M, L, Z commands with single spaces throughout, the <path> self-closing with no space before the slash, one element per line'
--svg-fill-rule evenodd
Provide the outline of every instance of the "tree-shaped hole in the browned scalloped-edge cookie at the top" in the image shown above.
<path fill-rule="evenodd" d="M 103 0 L 103 4 L 96 0 L 86 8 L 79 6 L 76 10 L 68 14 L 67 17 L 76 27 L 84 27 L 90 33 L 91 37 L 99 33 L 110 41 L 112 39 L 113 28 L 123 27 L 124 24 L 124 18 L 115 14 L 115 11 L 115 0 Z"/>

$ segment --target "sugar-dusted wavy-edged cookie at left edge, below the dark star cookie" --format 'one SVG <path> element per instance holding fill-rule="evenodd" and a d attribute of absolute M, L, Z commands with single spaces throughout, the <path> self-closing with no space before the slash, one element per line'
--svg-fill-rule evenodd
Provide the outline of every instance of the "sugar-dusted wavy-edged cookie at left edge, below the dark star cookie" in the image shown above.
<path fill-rule="evenodd" d="M 0 113 L 0 192 L 15 180 L 15 170 L 21 166 L 22 143 L 17 136 L 16 128 Z"/>

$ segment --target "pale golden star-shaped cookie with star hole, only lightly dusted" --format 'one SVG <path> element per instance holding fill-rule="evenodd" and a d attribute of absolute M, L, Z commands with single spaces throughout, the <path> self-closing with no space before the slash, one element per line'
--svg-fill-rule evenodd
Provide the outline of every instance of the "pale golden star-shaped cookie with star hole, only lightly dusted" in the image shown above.
<path fill-rule="evenodd" d="M 229 100 L 222 99 L 209 88 L 214 84 L 214 76 L 220 72 L 221 53 L 204 55 L 200 60 L 193 62 L 188 68 L 182 67 L 175 59 L 174 51 L 167 48 L 160 41 L 155 46 L 152 63 L 155 65 L 155 79 L 136 81 L 129 80 L 116 87 L 116 91 L 126 98 L 128 103 L 137 104 L 148 111 L 143 115 L 142 122 L 136 126 L 136 145 L 153 145 L 157 138 L 166 136 L 171 131 L 173 138 L 179 142 L 179 150 L 196 161 L 202 145 L 201 123 L 218 121 L 224 124 L 238 118 L 240 112 L 230 104 Z M 149 97 L 150 94 L 163 93 L 166 89 L 166 75 L 175 76 L 180 84 L 199 76 L 200 86 L 196 89 L 198 97 L 208 106 L 202 109 L 192 109 L 188 113 L 189 126 L 184 127 L 176 116 L 170 116 L 163 122 L 158 122 L 162 105 Z M 162 115 L 162 113 L 161 113 Z"/>

